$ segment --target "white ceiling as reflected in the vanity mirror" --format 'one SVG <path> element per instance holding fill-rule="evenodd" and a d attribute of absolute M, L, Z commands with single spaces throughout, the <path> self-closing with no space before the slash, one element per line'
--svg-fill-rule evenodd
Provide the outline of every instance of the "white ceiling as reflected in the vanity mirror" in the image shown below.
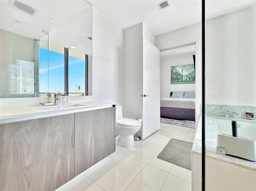
<path fill-rule="evenodd" d="M 39 9 L 36 16 L 12 8 L 11 0 L 0 0 L 1 29 L 15 33 L 19 30 L 20 35 L 39 39 L 40 37 L 32 35 L 32 28 L 38 28 L 49 32 L 49 41 L 53 44 L 67 48 L 74 45 L 77 47 L 76 51 L 92 54 L 92 41 L 87 39 L 92 36 L 92 7 L 88 2 L 84 0 L 23 0 L 23 2 Z M 26 24 L 26 28 L 13 22 L 16 20 Z M 33 27 L 30 27 L 25 34 L 28 25 Z M 15 31 L 14 27 L 18 29 Z"/>

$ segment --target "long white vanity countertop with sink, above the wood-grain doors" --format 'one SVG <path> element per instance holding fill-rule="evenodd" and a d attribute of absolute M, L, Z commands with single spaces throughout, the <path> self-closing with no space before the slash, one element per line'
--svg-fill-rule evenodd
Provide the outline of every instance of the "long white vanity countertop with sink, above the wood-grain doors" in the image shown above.
<path fill-rule="evenodd" d="M 72 107 L 75 104 L 79 104 L 78 107 Z M 115 103 L 109 102 L 77 102 L 68 105 L 60 105 L 60 106 L 29 106 L 29 107 L 16 107 L 16 108 L 4 108 L 0 109 L 0 124 L 6 124 L 11 122 L 18 122 L 24 120 L 52 117 L 64 114 L 71 114 L 76 112 L 84 112 L 96 109 L 109 108 Z M 70 108 L 61 109 L 62 106 L 70 106 Z M 59 107 L 58 110 L 51 110 L 51 108 Z"/>

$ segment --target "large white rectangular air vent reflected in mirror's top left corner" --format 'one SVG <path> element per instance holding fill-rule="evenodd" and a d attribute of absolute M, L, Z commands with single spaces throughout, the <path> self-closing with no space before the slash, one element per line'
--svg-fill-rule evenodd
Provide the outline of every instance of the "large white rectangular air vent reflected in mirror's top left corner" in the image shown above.
<path fill-rule="evenodd" d="M 39 11 L 38 8 L 21 0 L 12 0 L 10 6 L 31 16 L 36 16 Z"/>

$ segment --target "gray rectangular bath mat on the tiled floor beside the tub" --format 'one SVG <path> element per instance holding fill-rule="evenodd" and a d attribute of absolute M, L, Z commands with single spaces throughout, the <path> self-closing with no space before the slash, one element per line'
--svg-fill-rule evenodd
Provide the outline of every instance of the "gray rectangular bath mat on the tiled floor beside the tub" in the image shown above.
<path fill-rule="evenodd" d="M 157 158 L 191 170 L 192 145 L 193 143 L 171 138 Z"/>

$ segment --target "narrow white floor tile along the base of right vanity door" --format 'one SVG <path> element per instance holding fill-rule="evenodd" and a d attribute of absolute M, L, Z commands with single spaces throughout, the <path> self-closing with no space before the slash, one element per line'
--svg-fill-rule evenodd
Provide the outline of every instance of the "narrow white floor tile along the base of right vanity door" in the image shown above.
<path fill-rule="evenodd" d="M 84 172 L 84 174 L 97 183 L 127 157 L 128 156 L 119 152 L 114 152 L 110 155 L 108 159 L 105 159 L 104 161 L 90 169 L 90 171 Z"/>

